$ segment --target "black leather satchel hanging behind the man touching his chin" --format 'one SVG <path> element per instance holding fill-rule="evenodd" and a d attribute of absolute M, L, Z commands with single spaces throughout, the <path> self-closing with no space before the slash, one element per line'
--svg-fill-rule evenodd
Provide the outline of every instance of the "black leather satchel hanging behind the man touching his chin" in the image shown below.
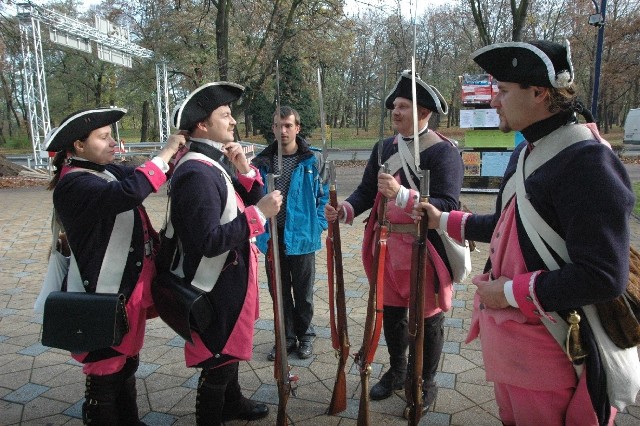
<path fill-rule="evenodd" d="M 204 331 L 213 321 L 213 306 L 207 295 L 169 271 L 158 273 L 151 296 L 160 318 L 190 343 L 191 330 Z"/>

